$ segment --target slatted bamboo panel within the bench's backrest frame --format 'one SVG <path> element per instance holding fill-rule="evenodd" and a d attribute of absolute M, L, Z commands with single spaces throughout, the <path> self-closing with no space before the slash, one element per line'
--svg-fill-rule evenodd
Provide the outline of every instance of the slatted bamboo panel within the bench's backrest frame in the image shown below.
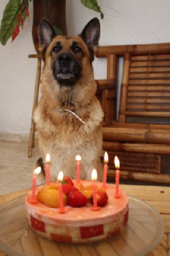
<path fill-rule="evenodd" d="M 170 118 L 170 54 L 126 52 L 120 102 L 120 122 Z"/>

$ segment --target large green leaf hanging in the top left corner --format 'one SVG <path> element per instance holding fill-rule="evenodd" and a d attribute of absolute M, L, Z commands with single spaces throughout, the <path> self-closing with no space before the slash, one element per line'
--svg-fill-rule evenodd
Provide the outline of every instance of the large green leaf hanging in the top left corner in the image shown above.
<path fill-rule="evenodd" d="M 26 4 L 24 4 L 24 2 Z M 18 22 L 19 12 L 22 12 L 23 21 L 26 20 L 27 16 L 22 6 L 25 6 L 26 8 L 28 8 L 29 6 L 28 1 L 10 0 L 8 4 L 6 4 L 6 8 L 4 9 L 4 12 L 3 12 L 3 19 L 1 20 L 1 28 L 0 28 L 1 44 L 6 45 L 6 42 L 12 36 L 12 33 Z"/>

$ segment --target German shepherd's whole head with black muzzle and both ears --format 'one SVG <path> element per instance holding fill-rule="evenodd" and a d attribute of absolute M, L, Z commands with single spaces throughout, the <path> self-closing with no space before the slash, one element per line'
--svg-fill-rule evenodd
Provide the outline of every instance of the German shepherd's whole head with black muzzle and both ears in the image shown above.
<path fill-rule="evenodd" d="M 100 38 L 100 22 L 94 18 L 82 30 L 81 35 L 66 37 L 56 35 L 47 20 L 42 19 L 38 28 L 42 58 L 50 60 L 54 79 L 59 85 L 73 86 L 94 60 Z M 87 64 L 88 63 L 88 64 Z"/>

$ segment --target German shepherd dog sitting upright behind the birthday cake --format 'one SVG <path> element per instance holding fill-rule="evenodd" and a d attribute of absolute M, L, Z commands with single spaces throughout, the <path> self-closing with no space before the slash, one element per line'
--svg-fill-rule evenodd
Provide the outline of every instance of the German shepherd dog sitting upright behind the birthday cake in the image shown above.
<path fill-rule="evenodd" d="M 50 180 L 57 179 L 59 171 L 76 179 L 77 155 L 81 156 L 81 179 L 91 179 L 95 168 L 100 180 L 104 113 L 95 96 L 97 84 L 92 67 L 100 22 L 94 18 L 81 35 L 67 37 L 56 35 L 43 19 L 38 36 L 44 67 L 35 123 L 43 163 L 50 154 Z"/>

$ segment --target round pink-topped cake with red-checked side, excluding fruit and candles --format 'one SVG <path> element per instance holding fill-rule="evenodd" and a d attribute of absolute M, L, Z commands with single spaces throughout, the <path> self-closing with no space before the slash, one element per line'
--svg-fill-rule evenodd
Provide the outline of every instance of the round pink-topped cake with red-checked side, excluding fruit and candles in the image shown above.
<path fill-rule="evenodd" d="M 81 181 L 84 186 L 91 184 Z M 96 182 L 98 187 L 102 183 Z M 36 188 L 36 193 L 42 186 Z M 65 206 L 65 213 L 40 202 L 31 202 L 32 192 L 25 198 L 27 220 L 36 234 L 61 243 L 93 243 L 104 241 L 120 234 L 128 223 L 128 196 L 120 189 L 120 198 L 115 198 L 115 187 L 107 184 L 108 202 L 98 211 L 91 204 L 84 207 Z"/>

